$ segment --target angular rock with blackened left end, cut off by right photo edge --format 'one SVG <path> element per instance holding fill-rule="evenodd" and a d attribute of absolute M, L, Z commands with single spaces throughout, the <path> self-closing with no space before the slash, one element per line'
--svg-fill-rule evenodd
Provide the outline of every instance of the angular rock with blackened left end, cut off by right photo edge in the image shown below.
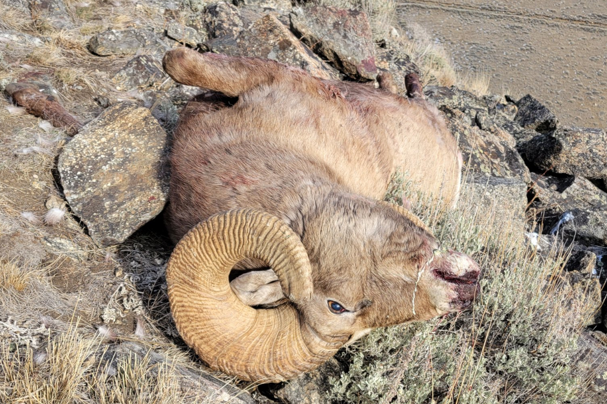
<path fill-rule="evenodd" d="M 604 130 L 561 127 L 520 145 L 521 156 L 538 171 L 607 181 L 607 135 Z"/>

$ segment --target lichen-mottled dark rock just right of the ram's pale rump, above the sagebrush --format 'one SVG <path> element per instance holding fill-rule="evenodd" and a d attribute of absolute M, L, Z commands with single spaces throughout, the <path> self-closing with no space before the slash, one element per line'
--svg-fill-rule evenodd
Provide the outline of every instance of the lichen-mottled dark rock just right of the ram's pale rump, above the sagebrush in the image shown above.
<path fill-rule="evenodd" d="M 493 131 L 473 126 L 469 116 L 443 107 L 447 126 L 458 139 L 464 157 L 464 170 L 485 176 L 514 178 L 527 183 L 529 170 L 515 150 L 514 137 L 495 125 Z"/>

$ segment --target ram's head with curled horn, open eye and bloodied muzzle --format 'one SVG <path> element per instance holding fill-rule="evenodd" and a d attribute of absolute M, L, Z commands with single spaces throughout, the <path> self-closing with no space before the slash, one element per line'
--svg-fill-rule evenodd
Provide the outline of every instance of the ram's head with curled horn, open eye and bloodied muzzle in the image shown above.
<path fill-rule="evenodd" d="M 167 268 L 171 310 L 183 339 L 212 368 L 244 380 L 288 380 L 371 329 L 463 310 L 476 294 L 478 265 L 441 249 L 404 208 L 361 198 L 304 222 L 302 232 L 268 213 L 232 210 L 178 243 Z M 290 302 L 245 305 L 228 280 L 243 259 L 267 263 Z"/>

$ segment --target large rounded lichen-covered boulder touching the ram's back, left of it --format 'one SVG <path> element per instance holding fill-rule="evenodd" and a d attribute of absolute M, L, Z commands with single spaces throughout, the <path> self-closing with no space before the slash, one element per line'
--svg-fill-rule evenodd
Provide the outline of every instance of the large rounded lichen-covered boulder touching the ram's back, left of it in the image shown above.
<path fill-rule="evenodd" d="M 168 195 L 167 136 L 149 110 L 120 103 L 83 127 L 59 156 L 63 191 L 100 247 L 153 219 Z"/>

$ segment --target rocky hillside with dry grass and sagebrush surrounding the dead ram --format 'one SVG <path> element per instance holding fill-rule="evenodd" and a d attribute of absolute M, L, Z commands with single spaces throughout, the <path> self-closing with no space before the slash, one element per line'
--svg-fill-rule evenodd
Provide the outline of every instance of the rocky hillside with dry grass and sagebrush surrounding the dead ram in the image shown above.
<path fill-rule="evenodd" d="M 605 131 L 560 125 L 532 95 L 446 87 L 446 59 L 387 18 L 393 5 L 0 3 L 0 402 L 605 402 Z M 290 383 L 209 373 L 175 330 L 164 280 L 171 133 L 205 92 L 162 70 L 179 46 L 370 85 L 387 70 L 401 94 L 418 73 L 466 186 L 449 211 L 395 173 L 387 198 L 418 200 L 435 234 L 480 262 L 474 310 L 378 330 Z M 28 91 L 70 125 L 29 114 Z"/>

